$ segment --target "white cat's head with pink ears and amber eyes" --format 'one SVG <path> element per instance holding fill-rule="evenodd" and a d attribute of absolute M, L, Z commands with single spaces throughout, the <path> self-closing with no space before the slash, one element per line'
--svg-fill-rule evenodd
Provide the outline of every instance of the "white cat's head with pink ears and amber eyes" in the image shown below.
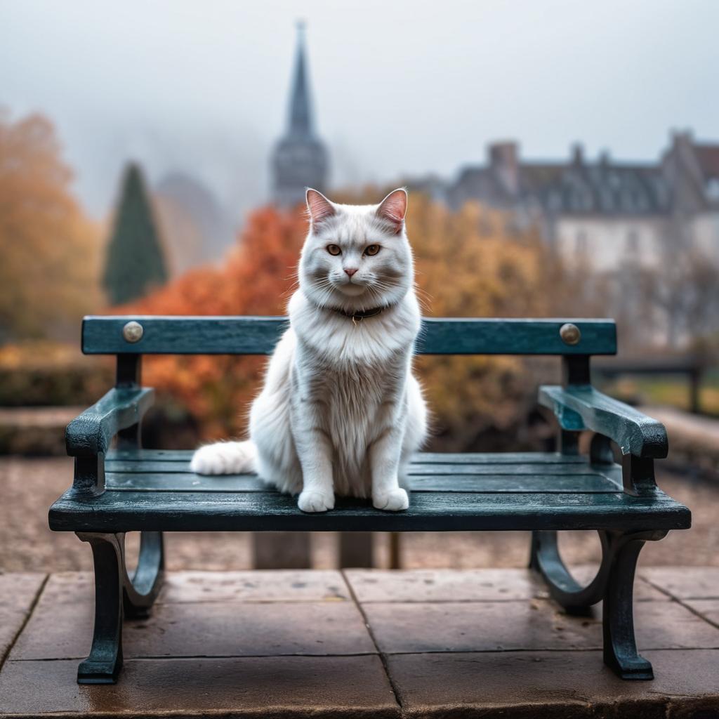
<path fill-rule="evenodd" d="M 412 287 L 405 232 L 407 193 L 378 205 L 340 205 L 307 191 L 310 230 L 300 260 L 300 286 L 321 307 L 362 311 L 398 303 Z"/>

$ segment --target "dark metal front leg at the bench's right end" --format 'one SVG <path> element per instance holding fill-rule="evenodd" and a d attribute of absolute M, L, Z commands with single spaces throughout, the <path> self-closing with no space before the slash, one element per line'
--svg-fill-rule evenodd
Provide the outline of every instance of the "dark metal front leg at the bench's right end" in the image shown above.
<path fill-rule="evenodd" d="M 621 679 L 654 679 L 651 664 L 638 654 L 634 637 L 634 572 L 645 541 L 667 536 L 666 531 L 606 532 L 608 580 L 602 608 L 604 663 Z"/>

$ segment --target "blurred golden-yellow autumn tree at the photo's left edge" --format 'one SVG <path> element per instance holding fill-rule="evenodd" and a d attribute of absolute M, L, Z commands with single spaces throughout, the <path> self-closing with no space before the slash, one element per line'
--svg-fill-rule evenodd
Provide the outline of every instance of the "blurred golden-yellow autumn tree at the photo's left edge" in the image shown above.
<path fill-rule="evenodd" d="M 101 306 L 98 232 L 71 180 L 47 119 L 0 114 L 0 341 L 77 336 Z"/>

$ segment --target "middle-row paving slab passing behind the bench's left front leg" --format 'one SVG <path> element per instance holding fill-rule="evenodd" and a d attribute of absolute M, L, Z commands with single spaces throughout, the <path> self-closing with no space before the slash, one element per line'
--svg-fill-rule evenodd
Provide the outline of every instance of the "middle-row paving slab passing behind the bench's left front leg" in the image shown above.
<path fill-rule="evenodd" d="M 92 641 L 93 611 L 84 603 L 38 606 L 11 659 L 82 659 Z M 349 602 L 156 605 L 127 620 L 126 657 L 280 656 L 376 652 L 362 615 Z"/>

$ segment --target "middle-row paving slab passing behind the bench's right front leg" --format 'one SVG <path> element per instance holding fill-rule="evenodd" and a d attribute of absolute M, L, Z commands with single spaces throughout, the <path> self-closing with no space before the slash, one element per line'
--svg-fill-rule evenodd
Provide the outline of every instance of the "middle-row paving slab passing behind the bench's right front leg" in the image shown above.
<path fill-rule="evenodd" d="M 570 616 L 549 600 L 475 603 L 368 603 L 363 610 L 380 651 L 600 649 L 600 610 Z M 719 649 L 719 628 L 676 602 L 635 611 L 641 649 Z"/>

